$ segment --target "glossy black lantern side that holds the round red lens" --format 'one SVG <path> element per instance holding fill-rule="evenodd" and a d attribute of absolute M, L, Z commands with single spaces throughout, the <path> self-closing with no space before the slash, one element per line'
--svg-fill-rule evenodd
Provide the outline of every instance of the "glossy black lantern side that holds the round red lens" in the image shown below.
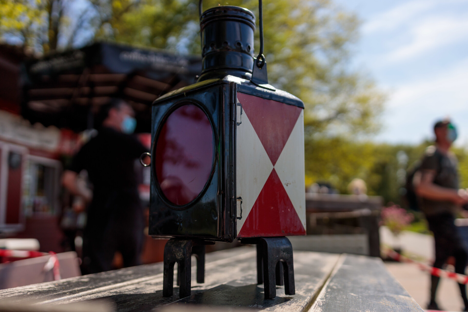
<path fill-rule="evenodd" d="M 229 222 L 229 217 L 228 214 L 223 215 L 225 211 L 221 207 L 225 206 L 225 203 L 222 202 L 224 196 L 219 192 L 219 189 L 223 188 L 223 178 L 227 174 L 227 170 L 222 163 L 225 155 L 219 149 L 219 145 L 225 141 L 222 132 L 224 128 L 222 124 L 224 119 L 222 116 L 224 94 L 223 87 L 219 83 L 202 82 L 177 90 L 168 95 L 167 100 L 161 101 L 153 107 L 150 235 L 233 240 L 232 231 L 226 231 L 226 226 L 229 228 L 229 223 L 227 225 L 222 224 L 222 222 Z M 204 124 L 208 121 L 207 126 L 212 130 L 211 133 L 205 131 L 204 134 L 208 138 L 201 138 L 202 135 L 197 132 L 199 129 L 196 129 L 196 127 L 183 134 L 191 135 L 191 139 L 195 140 L 195 145 L 198 145 L 199 139 L 203 139 L 204 142 L 209 141 L 211 151 L 206 153 L 205 159 L 198 159 L 198 161 L 204 162 L 204 164 L 200 164 L 197 163 L 197 159 L 191 157 L 193 151 L 187 150 L 187 145 L 181 146 L 180 142 L 173 139 L 168 144 L 170 146 L 166 151 L 166 154 L 172 155 L 168 155 L 166 162 L 169 162 L 169 166 L 171 162 L 176 163 L 176 166 L 180 166 L 182 171 L 204 166 L 203 178 L 200 179 L 197 176 L 190 176 L 188 180 L 181 179 L 175 177 L 176 174 L 174 173 L 168 173 L 167 176 L 160 173 L 158 177 L 158 168 L 163 166 L 161 162 L 164 161 L 161 152 L 158 155 L 157 151 L 158 140 L 161 139 L 161 130 L 167 125 L 168 118 L 181 109 L 191 109 L 191 112 L 205 116 L 203 118 L 205 119 Z M 190 114 L 190 111 L 188 113 Z M 185 114 L 185 119 L 180 118 L 180 123 L 176 122 L 173 128 L 183 127 L 183 123 L 190 122 L 193 119 L 200 119 L 199 116 L 189 114 Z M 227 139 L 227 142 L 229 142 L 229 139 Z M 208 171 L 206 167 L 209 167 Z M 197 174 L 196 171 L 195 174 Z M 192 179 L 196 181 L 192 181 Z M 168 185 L 170 180 L 173 180 L 172 185 Z M 184 194 L 188 193 L 186 190 L 187 185 L 194 182 L 198 183 L 199 193 L 194 194 L 195 191 L 193 191 L 190 192 L 190 196 L 184 196 Z M 171 190 L 171 188 L 174 190 Z M 170 194 L 171 191 L 176 194 Z M 221 229 L 225 230 L 222 231 Z"/>

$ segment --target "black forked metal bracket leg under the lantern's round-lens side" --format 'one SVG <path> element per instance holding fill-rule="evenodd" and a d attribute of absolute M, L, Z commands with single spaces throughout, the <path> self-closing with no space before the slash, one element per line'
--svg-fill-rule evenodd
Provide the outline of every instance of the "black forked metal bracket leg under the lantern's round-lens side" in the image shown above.
<path fill-rule="evenodd" d="M 177 262 L 177 285 L 179 297 L 190 296 L 192 254 L 197 258 L 197 283 L 205 283 L 205 245 L 212 241 L 199 239 L 169 239 L 164 247 L 162 296 L 171 297 L 174 288 L 174 265 Z"/>

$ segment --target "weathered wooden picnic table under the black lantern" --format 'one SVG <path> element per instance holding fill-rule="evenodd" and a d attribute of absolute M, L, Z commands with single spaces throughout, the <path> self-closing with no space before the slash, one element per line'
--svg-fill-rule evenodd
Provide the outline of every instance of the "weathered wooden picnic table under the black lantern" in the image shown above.
<path fill-rule="evenodd" d="M 380 258 L 295 251 L 296 294 L 285 295 L 283 287 L 277 286 L 277 297 L 270 300 L 263 298 L 263 284 L 256 284 L 254 247 L 206 254 L 205 283 L 195 282 L 196 269 L 192 268 L 190 297 L 179 299 L 178 287 L 174 288 L 172 297 L 162 297 L 162 271 L 162 263 L 154 263 L 0 290 L 0 311 L 7 311 L 2 310 L 2 302 L 21 305 L 34 301 L 37 309 L 47 311 L 44 308 L 48 305 L 59 307 L 59 304 L 91 299 L 110 301 L 110 310 L 119 312 L 161 308 L 163 311 L 197 310 L 194 305 L 211 306 L 204 311 L 231 311 L 234 308 L 316 312 L 423 311 L 390 275 Z"/>

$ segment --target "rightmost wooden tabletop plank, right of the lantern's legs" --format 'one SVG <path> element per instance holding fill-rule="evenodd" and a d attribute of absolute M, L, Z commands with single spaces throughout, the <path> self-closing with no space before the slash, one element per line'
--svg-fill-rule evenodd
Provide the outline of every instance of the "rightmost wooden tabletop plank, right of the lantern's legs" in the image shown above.
<path fill-rule="evenodd" d="M 344 255 L 310 311 L 423 312 L 379 258 Z"/>

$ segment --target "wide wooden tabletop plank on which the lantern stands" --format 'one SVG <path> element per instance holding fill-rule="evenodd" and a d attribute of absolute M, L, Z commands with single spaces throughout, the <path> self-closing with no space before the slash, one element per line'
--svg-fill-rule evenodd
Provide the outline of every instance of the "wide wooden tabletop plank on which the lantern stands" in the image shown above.
<path fill-rule="evenodd" d="M 275 311 L 281 305 L 292 308 L 292 311 L 303 311 L 304 307 L 310 303 L 316 292 L 325 283 L 326 277 L 338 259 L 338 255 L 335 254 L 294 254 L 296 295 L 285 296 L 283 287 L 279 287 L 277 297 L 274 300 L 264 300 L 263 285 L 256 285 L 255 250 L 253 248 L 246 249 L 251 251 L 236 256 L 232 255 L 233 251 L 229 258 L 207 263 L 205 283 L 192 283 L 192 296 L 182 300 L 178 300 L 178 288 L 174 289 L 173 297 L 162 297 L 162 275 L 158 275 L 151 280 L 122 285 L 122 287 L 109 290 L 88 292 L 79 297 L 64 298 L 60 302 L 108 299 L 115 302 L 118 308 L 117 311 L 133 311 L 137 306 L 139 311 L 150 311 L 155 307 L 175 300 L 178 303 L 241 305 Z M 192 273 L 194 272 L 195 270 L 192 270 Z M 195 276 L 193 275 L 192 280 L 194 279 Z M 200 293 L 203 294 L 199 295 Z M 228 298 L 232 298 L 232 300 Z M 279 308 L 281 309 L 281 307 Z"/>

